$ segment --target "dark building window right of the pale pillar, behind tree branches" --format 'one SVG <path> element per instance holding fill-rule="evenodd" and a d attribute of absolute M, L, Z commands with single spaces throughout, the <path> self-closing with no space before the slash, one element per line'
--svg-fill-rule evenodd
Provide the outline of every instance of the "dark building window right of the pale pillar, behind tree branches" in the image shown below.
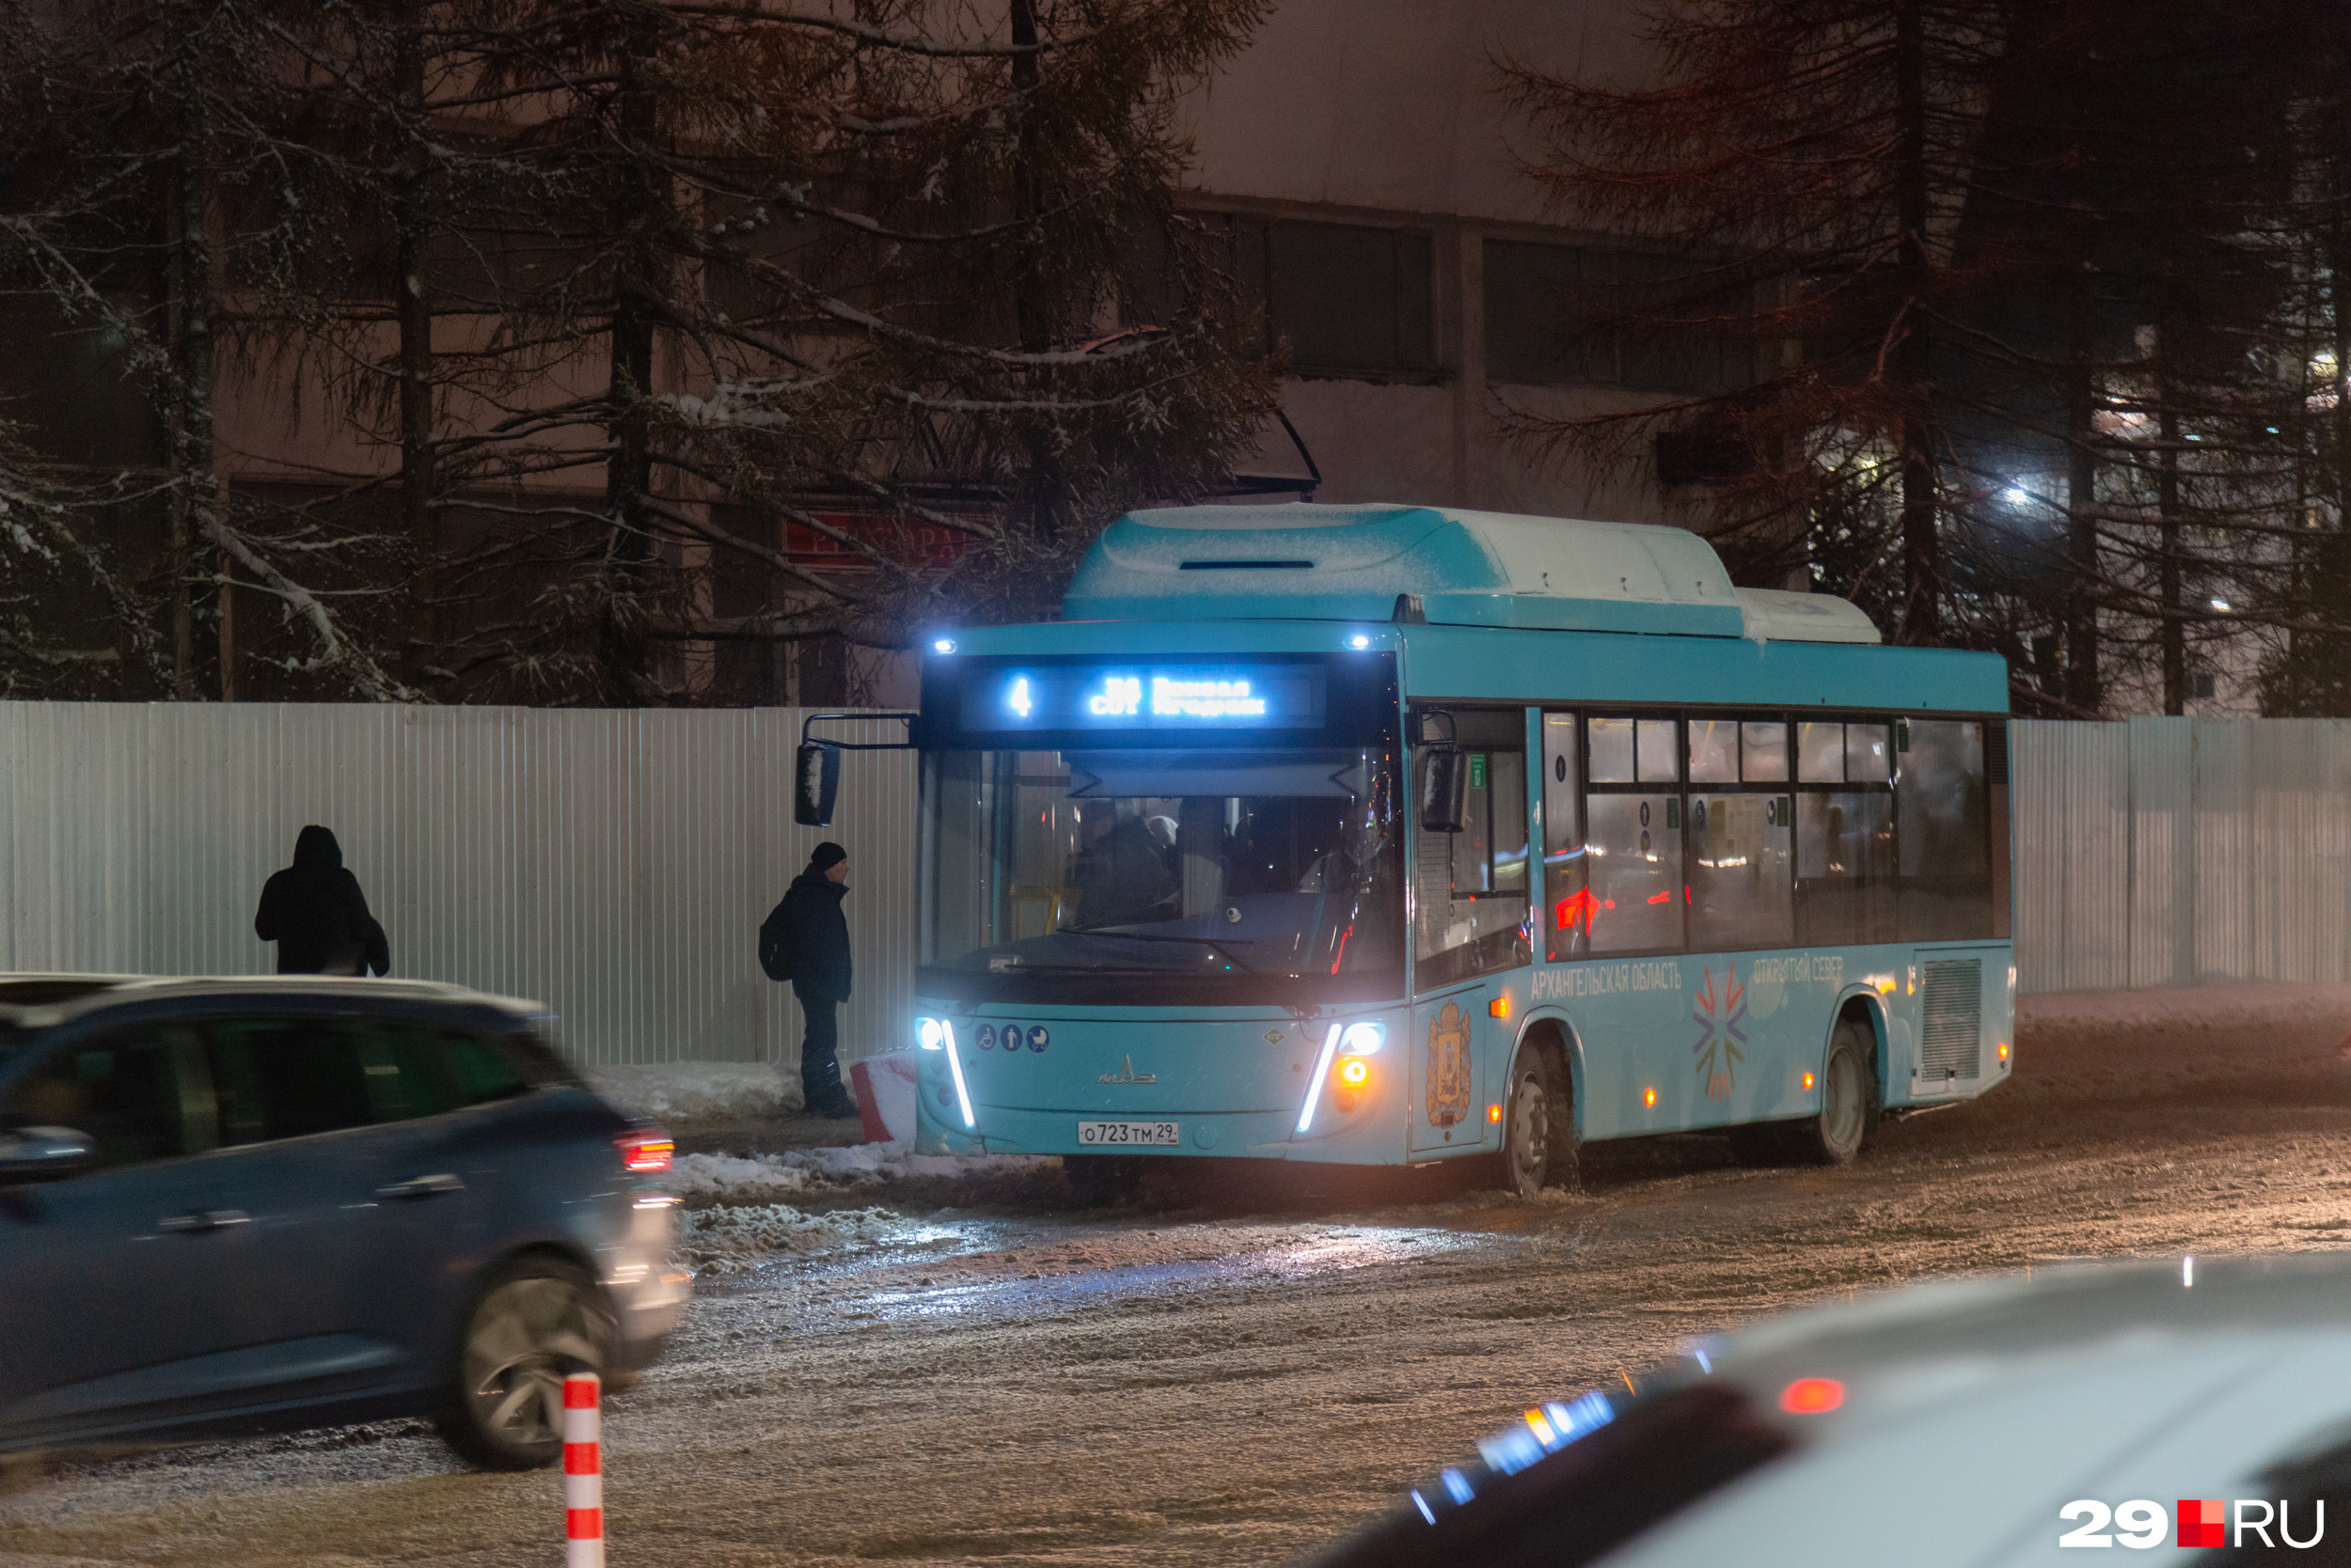
<path fill-rule="evenodd" d="M 1707 324 L 1636 329 L 1625 317 L 1683 301 L 1686 263 L 1578 244 L 1486 240 L 1486 378 L 1721 393 L 1751 378 L 1744 343 Z"/>

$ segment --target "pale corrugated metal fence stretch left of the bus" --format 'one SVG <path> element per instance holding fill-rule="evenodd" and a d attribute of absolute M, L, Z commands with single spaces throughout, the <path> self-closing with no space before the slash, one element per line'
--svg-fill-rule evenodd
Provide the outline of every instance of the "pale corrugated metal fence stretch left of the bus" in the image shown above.
<path fill-rule="evenodd" d="M 804 717 L 0 703 L 0 966 L 268 969 L 261 882 L 324 823 L 395 973 L 548 1001 L 588 1063 L 797 1065 L 799 1009 L 757 931 L 832 837 L 858 966 L 842 1046 L 870 1056 L 912 1011 L 917 769 L 851 752 L 839 823 L 795 827 Z"/>

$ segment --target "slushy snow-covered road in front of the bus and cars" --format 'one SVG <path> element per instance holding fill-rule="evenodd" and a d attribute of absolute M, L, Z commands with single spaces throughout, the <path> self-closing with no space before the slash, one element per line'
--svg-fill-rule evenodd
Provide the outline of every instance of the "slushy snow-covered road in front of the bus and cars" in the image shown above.
<path fill-rule="evenodd" d="M 611 1561 L 1279 1563 L 1528 1399 L 1761 1312 L 2034 1258 L 2339 1246 L 2346 1032 L 2346 990 L 2050 999 L 2017 1084 L 1890 1124 L 1855 1168 L 1655 1140 L 1556 1204 L 1455 1182 L 1093 1218 L 1051 1173 L 950 1211 L 795 1197 L 797 1239 L 708 1276 L 614 1401 Z M 552 1476 L 461 1472 L 409 1427 L 19 1462 L 0 1490 L 0 1563 L 503 1566 L 557 1537 Z"/>

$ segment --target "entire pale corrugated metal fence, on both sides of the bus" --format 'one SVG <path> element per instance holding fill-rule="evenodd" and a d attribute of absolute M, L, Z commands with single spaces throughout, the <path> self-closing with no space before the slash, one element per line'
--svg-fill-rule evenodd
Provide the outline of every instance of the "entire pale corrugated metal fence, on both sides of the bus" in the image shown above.
<path fill-rule="evenodd" d="M 538 997 L 585 1063 L 797 1065 L 755 938 L 828 837 L 790 820 L 802 717 L 0 703 L 0 969 L 268 969 L 261 882 L 324 823 L 397 973 Z M 2015 722 L 2012 750 L 2024 990 L 2351 980 L 2351 722 Z M 915 797 L 910 752 L 844 757 L 851 1058 L 907 1032 Z"/>

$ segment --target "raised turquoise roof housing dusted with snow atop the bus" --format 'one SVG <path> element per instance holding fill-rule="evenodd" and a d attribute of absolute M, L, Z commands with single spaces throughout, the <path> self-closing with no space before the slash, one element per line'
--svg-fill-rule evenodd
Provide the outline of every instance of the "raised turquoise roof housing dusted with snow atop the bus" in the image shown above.
<path fill-rule="evenodd" d="M 1418 604 L 1413 604 L 1418 599 Z M 1686 529 L 1434 505 L 1178 505 L 1086 552 L 1067 621 L 1279 618 L 1878 642 L 1829 595 L 1733 588 Z"/>

